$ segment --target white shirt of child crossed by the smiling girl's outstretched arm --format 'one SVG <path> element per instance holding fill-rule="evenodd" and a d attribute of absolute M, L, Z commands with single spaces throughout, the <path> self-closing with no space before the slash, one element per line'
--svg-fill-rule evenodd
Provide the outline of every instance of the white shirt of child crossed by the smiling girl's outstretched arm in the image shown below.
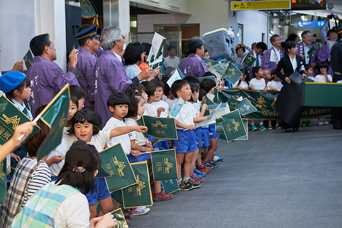
<path fill-rule="evenodd" d="M 104 126 L 103 129 L 111 130 L 120 126 L 127 126 L 127 125 L 122 120 L 118 120 L 114 117 L 111 117 L 107 121 L 107 124 Z M 107 143 L 107 145 L 108 147 L 110 147 L 113 145 L 117 145 L 118 143 L 121 144 L 125 154 L 130 154 L 130 139 L 129 139 L 128 133 L 111 138 L 110 143 Z"/>

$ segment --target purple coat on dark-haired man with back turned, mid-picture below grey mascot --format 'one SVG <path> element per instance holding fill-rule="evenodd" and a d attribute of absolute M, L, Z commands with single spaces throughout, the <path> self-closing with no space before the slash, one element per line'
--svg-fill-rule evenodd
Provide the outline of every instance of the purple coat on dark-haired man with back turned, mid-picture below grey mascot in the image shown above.
<path fill-rule="evenodd" d="M 201 60 L 195 54 L 188 55 L 178 64 L 178 68 L 183 72 L 184 76 L 193 76 L 196 78 L 202 78 L 208 68 L 203 60 Z"/>

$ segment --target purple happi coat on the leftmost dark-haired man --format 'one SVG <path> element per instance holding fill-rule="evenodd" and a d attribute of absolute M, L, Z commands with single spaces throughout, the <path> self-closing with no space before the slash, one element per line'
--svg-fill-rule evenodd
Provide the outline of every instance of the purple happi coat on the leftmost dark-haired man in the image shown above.
<path fill-rule="evenodd" d="M 66 83 L 80 86 L 75 76 L 78 74 L 78 70 L 73 67 L 65 74 L 57 63 L 43 57 L 34 57 L 33 64 L 27 72 L 32 90 L 29 99 L 31 113 L 33 114 L 39 106 L 48 104 Z"/>

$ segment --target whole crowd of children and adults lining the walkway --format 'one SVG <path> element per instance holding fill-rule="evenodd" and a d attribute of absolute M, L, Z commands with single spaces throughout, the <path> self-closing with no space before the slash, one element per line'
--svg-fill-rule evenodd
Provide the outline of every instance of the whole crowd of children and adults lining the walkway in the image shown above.
<path fill-rule="evenodd" d="M 243 76 L 234 85 L 212 79 L 200 83 L 198 78 L 213 75 L 201 60 L 201 57 L 210 58 L 210 53 L 205 50 L 202 39 L 193 37 L 188 41 L 188 55 L 183 60 L 176 57 L 175 47 L 169 46 L 167 50 L 165 68 L 177 65 L 185 76 L 171 87 L 167 83 L 170 76 L 163 77 L 160 67 L 152 69 L 146 63 L 151 44 L 132 42 L 124 50 L 126 37 L 117 26 L 103 28 L 99 36 L 96 25 L 83 25 L 75 36 L 79 48 L 71 51 L 66 74 L 53 62 L 57 59 L 56 48 L 49 35 L 34 37 L 30 41 L 35 56 L 33 65 L 27 75 L 20 67 L 2 75 L 2 93 L 32 120 L 69 83 L 68 116 L 61 144 L 41 161 L 37 161 L 37 151 L 49 132 L 41 120 L 37 122 L 41 130 L 23 147 L 9 153 L 24 142 L 34 123 L 19 125 L 12 139 L 0 147 L 1 161 L 8 154 L 8 162 L 10 158 L 18 162 L 9 162 L 15 171 L 8 177 L 10 184 L 1 207 L 0 227 L 116 226 L 117 221 L 110 212 L 120 205 L 111 198 L 105 178 L 96 178 L 96 175 L 102 164 L 98 152 L 118 143 L 129 163 L 150 161 L 148 152 L 151 151 L 175 149 L 179 189 L 200 187 L 210 169 L 223 161 L 215 155 L 214 124 L 198 126 L 207 117 L 207 105 L 202 104 L 206 95 L 214 94 L 215 87 L 221 90 L 224 86 L 263 93 L 280 91 L 284 83 L 291 83 L 289 76 L 295 71 L 315 82 L 341 83 L 341 68 L 338 74 L 330 54 L 337 46 L 339 32 L 329 30 L 321 48 L 312 43 L 309 31 L 302 33 L 302 42 L 296 43 L 298 38 L 290 35 L 283 45 L 280 37 L 273 35 L 270 39 L 273 46 L 269 49 L 263 42 L 253 44 L 252 48 L 237 45 L 235 65 Z M 341 40 L 337 43 L 342 50 Z M 315 50 L 310 54 L 311 47 Z M 246 49 L 256 58 L 251 68 L 242 63 Z M 185 104 L 175 116 L 178 139 L 152 145 L 154 138 L 146 139 L 143 132 L 147 128 L 139 126 L 136 120 L 142 115 L 168 117 L 179 98 Z M 338 114 L 339 110 L 335 117 L 340 121 Z M 268 128 L 263 123 L 260 121 L 260 130 L 273 129 L 270 122 Z M 282 122 L 282 128 L 286 132 L 298 131 L 299 124 L 299 120 L 294 125 Z M 318 124 L 329 122 L 319 119 Z M 304 125 L 312 124 L 308 120 L 302 122 Z M 341 129 L 341 123 L 334 124 L 334 128 Z M 281 129 L 279 121 L 276 129 Z M 253 121 L 251 130 L 257 130 Z M 16 140 L 21 134 L 25 137 Z M 151 192 L 153 201 L 174 197 L 164 191 L 160 181 L 151 185 Z M 149 211 L 148 207 L 128 208 L 125 218 L 128 221 L 132 215 Z"/>

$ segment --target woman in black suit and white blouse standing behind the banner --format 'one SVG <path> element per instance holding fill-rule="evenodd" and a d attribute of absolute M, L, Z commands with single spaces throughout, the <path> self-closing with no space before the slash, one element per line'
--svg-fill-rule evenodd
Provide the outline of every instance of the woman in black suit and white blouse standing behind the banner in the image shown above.
<path fill-rule="evenodd" d="M 296 55 L 297 53 L 297 44 L 295 41 L 286 41 L 285 42 L 285 48 L 288 52 L 288 55 L 281 58 L 278 62 L 278 66 L 276 68 L 276 74 L 277 76 L 286 83 L 291 83 L 291 80 L 289 79 L 289 76 L 294 73 L 295 71 L 299 71 L 299 73 L 302 75 L 302 77 L 306 77 L 304 74 L 304 66 L 303 66 L 303 60 L 299 55 Z M 281 69 L 284 70 L 284 74 L 282 74 L 280 71 Z M 283 121 L 282 128 L 285 129 L 286 132 L 292 132 L 298 131 L 298 127 L 300 124 L 300 119 L 296 121 L 296 123 L 291 126 Z"/>

